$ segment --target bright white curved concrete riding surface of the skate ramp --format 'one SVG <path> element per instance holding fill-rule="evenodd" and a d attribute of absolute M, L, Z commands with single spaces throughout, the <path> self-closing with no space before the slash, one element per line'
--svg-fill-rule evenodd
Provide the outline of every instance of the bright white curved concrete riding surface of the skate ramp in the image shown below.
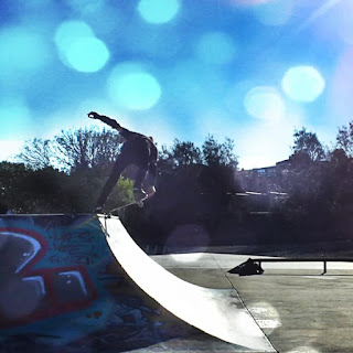
<path fill-rule="evenodd" d="M 235 290 L 203 288 L 172 275 L 131 239 L 118 217 L 98 215 L 107 243 L 127 275 L 189 324 L 257 352 L 276 352 Z"/>

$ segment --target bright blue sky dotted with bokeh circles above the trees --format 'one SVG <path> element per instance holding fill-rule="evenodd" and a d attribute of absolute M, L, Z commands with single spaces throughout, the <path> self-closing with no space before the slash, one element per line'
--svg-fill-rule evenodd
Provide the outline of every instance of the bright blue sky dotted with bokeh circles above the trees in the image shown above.
<path fill-rule="evenodd" d="M 240 168 L 327 145 L 353 117 L 352 0 L 2 0 L 0 159 L 97 125 L 235 141 Z M 103 125 L 99 125 L 103 127 Z"/>

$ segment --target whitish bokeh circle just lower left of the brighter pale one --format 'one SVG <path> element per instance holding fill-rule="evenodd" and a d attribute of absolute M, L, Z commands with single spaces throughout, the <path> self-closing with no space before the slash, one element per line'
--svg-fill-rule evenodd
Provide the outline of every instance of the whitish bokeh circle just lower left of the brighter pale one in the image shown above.
<path fill-rule="evenodd" d="M 244 105 L 250 116 L 267 121 L 279 121 L 286 111 L 277 89 L 266 86 L 250 89 L 245 96 Z"/>

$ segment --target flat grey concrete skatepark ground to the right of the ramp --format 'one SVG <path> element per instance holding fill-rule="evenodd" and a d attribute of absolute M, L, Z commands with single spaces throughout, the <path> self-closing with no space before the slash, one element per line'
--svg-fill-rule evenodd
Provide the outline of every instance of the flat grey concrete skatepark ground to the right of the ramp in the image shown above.
<path fill-rule="evenodd" d="M 258 256 L 252 256 L 258 257 Z M 208 288 L 234 288 L 280 353 L 353 352 L 353 264 L 266 263 L 261 276 L 227 274 L 248 255 L 157 255 L 178 277 Z"/>

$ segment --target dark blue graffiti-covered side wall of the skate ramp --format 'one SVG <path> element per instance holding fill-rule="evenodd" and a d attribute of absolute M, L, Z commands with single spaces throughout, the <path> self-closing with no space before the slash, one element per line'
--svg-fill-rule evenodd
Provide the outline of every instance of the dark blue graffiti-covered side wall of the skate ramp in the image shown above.
<path fill-rule="evenodd" d="M 126 276 L 96 216 L 0 217 L 1 352 L 118 352 L 182 328 Z"/>

